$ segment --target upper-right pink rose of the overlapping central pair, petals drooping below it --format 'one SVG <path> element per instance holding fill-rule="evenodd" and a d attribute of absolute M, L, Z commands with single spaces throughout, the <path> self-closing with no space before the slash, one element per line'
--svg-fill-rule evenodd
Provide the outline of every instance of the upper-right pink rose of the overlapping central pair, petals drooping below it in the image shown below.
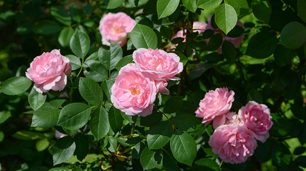
<path fill-rule="evenodd" d="M 139 48 L 133 52 L 133 61 L 141 72 L 155 80 L 158 92 L 163 94 L 169 94 L 166 81 L 180 80 L 175 75 L 183 71 L 180 57 L 164 50 Z"/>

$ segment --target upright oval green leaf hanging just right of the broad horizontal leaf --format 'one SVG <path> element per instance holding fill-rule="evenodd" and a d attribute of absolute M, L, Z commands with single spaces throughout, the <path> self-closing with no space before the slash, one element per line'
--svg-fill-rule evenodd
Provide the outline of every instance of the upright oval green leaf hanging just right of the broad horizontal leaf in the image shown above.
<path fill-rule="evenodd" d="M 98 107 L 94 110 L 90 121 L 90 129 L 97 140 L 100 140 L 107 134 L 110 129 L 110 123 L 108 121 L 108 112 L 104 107 Z"/>

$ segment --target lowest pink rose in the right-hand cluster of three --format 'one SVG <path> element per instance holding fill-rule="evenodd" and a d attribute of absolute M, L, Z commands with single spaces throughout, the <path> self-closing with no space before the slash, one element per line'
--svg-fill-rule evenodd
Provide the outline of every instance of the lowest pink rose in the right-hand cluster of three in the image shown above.
<path fill-rule="evenodd" d="M 208 144 L 225 163 L 245 162 L 253 155 L 257 141 L 245 125 L 236 123 L 221 125 L 214 130 Z"/>

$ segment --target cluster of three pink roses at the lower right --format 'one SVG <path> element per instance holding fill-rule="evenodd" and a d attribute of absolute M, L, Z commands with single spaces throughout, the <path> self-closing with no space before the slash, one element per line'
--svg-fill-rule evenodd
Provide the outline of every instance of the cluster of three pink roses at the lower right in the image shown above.
<path fill-rule="evenodd" d="M 238 114 L 231 112 L 234 95 L 227 87 L 210 90 L 195 111 L 205 126 L 212 122 L 214 132 L 208 142 L 212 152 L 231 164 L 243 163 L 253 155 L 257 140 L 265 142 L 273 125 L 270 109 L 254 101 L 241 107 Z"/>

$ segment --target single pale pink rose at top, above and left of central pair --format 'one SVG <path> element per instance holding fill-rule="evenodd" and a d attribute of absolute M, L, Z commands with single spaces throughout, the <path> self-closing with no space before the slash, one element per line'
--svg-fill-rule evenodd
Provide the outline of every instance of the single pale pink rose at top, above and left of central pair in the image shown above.
<path fill-rule="evenodd" d="M 104 15 L 100 20 L 99 30 L 102 35 L 102 43 L 105 45 L 110 45 L 108 42 L 112 40 L 117 42 L 121 38 L 125 37 L 127 33 L 130 33 L 136 21 L 130 16 L 123 12 L 118 12 L 116 14 L 108 13 Z M 126 43 L 127 38 L 117 42 L 121 47 Z"/>

